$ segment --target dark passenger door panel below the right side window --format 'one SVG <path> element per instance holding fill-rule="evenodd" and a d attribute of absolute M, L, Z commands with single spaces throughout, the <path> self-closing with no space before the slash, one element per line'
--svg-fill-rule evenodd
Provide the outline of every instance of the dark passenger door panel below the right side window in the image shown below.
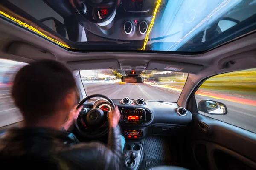
<path fill-rule="evenodd" d="M 200 124 L 208 131 L 202 130 Z M 255 133 L 196 113 L 189 134 L 194 159 L 201 169 L 256 169 Z"/>

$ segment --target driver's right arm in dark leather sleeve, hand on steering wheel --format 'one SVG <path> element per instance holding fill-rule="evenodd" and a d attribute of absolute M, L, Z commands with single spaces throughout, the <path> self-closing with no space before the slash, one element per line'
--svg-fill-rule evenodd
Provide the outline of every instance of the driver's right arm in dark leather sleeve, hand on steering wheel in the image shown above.
<path fill-rule="evenodd" d="M 113 112 L 109 113 L 110 129 L 107 147 L 99 142 L 81 142 L 72 147 L 61 149 L 58 153 L 59 160 L 67 161 L 67 167 L 71 169 L 122 170 L 119 120 L 120 111 L 116 107 Z"/>

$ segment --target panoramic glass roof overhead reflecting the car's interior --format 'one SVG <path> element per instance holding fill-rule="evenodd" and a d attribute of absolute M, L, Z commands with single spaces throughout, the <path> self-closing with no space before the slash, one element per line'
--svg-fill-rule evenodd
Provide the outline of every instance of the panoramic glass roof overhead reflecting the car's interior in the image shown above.
<path fill-rule="evenodd" d="M 72 51 L 201 52 L 256 30 L 256 0 L 1 0 L 0 16 Z"/>

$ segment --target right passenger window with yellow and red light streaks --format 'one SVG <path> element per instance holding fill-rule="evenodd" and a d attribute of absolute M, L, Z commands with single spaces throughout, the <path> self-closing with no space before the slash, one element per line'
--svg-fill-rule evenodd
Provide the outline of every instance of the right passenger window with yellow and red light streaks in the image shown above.
<path fill-rule="evenodd" d="M 199 104 L 198 113 L 256 133 L 256 69 L 213 76 L 200 86 L 195 98 L 197 105 L 207 101 L 205 111 Z M 227 114 L 221 115 L 223 109 L 216 102 L 226 106 Z"/>

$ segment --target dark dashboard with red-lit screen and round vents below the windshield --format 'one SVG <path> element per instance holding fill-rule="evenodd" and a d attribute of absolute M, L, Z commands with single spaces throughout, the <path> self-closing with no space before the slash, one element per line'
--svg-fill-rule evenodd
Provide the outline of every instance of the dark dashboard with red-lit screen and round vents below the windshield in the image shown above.
<path fill-rule="evenodd" d="M 176 103 L 146 101 L 128 97 L 112 99 L 120 109 L 120 126 L 127 139 L 143 139 L 150 135 L 172 136 L 191 122 L 192 114 Z M 90 99 L 83 106 L 87 111 L 98 108 L 111 111 L 106 99 Z"/>

